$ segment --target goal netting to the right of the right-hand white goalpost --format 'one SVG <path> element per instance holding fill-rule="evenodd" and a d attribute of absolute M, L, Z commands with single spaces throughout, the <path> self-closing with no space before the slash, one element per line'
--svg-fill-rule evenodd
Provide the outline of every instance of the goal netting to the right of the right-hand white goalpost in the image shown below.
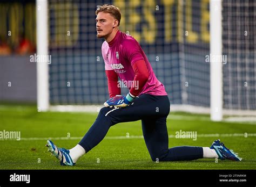
<path fill-rule="evenodd" d="M 256 2 L 223 1 L 224 109 L 256 114 Z M 250 112 L 251 111 L 251 112 Z"/>

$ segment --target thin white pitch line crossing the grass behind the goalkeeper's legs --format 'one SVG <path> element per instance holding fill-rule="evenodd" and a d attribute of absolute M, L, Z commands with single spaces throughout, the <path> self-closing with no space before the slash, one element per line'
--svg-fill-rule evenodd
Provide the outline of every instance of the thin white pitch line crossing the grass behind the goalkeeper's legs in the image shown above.
<path fill-rule="evenodd" d="M 233 134 L 198 134 L 197 137 L 244 137 L 243 133 L 233 133 Z M 256 133 L 248 133 L 247 137 L 256 136 Z M 49 138 L 21 138 L 19 141 L 37 141 L 37 140 L 81 140 L 83 137 L 49 137 Z M 169 138 L 175 138 L 175 135 L 169 135 Z M 115 140 L 115 139 L 143 139 L 143 135 L 139 136 L 106 136 L 104 139 Z M 16 140 L 16 139 L 0 139 L 0 140 Z"/>

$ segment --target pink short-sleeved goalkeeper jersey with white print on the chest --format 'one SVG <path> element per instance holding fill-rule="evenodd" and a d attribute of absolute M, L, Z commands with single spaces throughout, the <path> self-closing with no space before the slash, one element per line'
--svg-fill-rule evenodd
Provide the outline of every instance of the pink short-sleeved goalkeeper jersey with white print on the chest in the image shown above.
<path fill-rule="evenodd" d="M 103 42 L 102 56 L 105 61 L 105 70 L 114 70 L 123 82 L 133 81 L 135 75 L 132 68 L 133 63 L 144 60 L 149 71 L 149 80 L 139 95 L 143 93 L 156 96 L 167 95 L 164 85 L 154 75 L 154 71 L 142 47 L 130 35 L 117 31 L 113 40 L 109 43 Z"/>

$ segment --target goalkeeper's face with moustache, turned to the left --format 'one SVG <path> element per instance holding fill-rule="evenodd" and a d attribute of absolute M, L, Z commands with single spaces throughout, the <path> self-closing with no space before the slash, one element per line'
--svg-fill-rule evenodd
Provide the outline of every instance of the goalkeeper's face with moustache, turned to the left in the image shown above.
<path fill-rule="evenodd" d="M 117 26 L 117 22 L 110 13 L 99 12 L 96 17 L 97 38 L 106 38 L 112 33 L 113 27 Z"/>

